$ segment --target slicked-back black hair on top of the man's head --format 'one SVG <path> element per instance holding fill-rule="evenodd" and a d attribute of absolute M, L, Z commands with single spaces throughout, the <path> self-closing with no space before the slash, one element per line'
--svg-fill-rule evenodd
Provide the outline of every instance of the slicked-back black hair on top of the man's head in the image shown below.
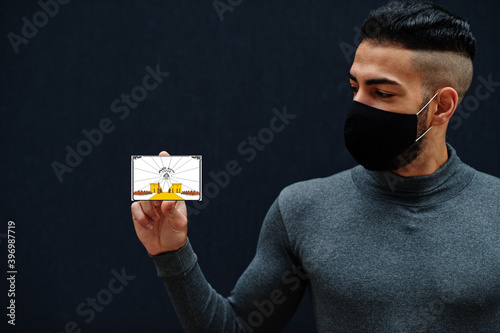
<path fill-rule="evenodd" d="M 450 51 L 471 60 L 476 53 L 469 21 L 430 2 L 393 1 L 371 11 L 361 37 L 409 50 Z"/>

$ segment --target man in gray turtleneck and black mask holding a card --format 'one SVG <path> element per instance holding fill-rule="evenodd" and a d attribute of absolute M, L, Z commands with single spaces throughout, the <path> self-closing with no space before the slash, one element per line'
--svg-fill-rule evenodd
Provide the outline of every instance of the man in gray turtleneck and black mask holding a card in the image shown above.
<path fill-rule="evenodd" d="M 197 264 L 184 203 L 132 204 L 186 331 L 279 332 L 309 287 L 320 332 L 500 332 L 500 179 L 445 141 L 472 80 L 469 24 L 393 2 L 362 31 L 345 123 L 361 165 L 285 188 L 228 298 Z"/>

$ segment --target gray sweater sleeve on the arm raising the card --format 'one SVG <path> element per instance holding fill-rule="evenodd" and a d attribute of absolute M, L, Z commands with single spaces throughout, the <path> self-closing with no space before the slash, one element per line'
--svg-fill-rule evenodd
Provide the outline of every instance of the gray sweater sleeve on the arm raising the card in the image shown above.
<path fill-rule="evenodd" d="M 177 251 L 151 257 L 186 332 L 279 332 L 307 286 L 278 200 L 264 219 L 255 257 L 227 298 L 206 281 L 189 240 Z"/>

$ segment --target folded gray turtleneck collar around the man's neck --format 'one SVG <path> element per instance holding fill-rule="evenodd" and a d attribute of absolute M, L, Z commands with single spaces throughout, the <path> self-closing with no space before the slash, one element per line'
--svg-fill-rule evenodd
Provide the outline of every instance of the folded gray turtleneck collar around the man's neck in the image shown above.
<path fill-rule="evenodd" d="M 425 206 L 456 196 L 474 178 L 476 170 L 463 163 L 447 144 L 448 161 L 428 176 L 402 177 L 390 171 L 369 171 L 362 166 L 352 169 L 352 179 L 365 195 L 377 200 L 411 206 Z"/>

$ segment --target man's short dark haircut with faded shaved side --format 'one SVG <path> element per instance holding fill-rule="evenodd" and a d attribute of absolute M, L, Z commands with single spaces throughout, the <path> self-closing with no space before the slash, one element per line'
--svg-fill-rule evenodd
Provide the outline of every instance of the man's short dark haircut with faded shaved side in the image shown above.
<path fill-rule="evenodd" d="M 393 1 L 370 12 L 361 29 L 363 41 L 415 51 L 414 69 L 430 95 L 454 88 L 459 103 L 472 82 L 476 39 L 468 20 L 429 2 Z"/>

